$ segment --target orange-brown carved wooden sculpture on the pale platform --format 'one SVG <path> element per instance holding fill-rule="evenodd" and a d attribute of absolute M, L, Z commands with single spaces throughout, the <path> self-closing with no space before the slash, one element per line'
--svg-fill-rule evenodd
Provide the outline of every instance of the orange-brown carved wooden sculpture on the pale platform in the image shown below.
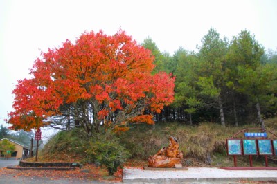
<path fill-rule="evenodd" d="M 157 154 L 148 158 L 148 167 L 175 167 L 180 164 L 183 154 L 179 151 L 179 144 L 175 137 L 170 136 L 168 147 L 163 147 Z"/>

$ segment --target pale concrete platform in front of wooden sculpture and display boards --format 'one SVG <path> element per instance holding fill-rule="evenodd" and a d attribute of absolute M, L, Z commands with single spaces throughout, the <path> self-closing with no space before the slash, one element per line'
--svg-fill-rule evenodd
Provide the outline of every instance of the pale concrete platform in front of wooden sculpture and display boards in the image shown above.
<path fill-rule="evenodd" d="M 277 183 L 277 170 L 225 170 L 216 167 L 188 167 L 188 170 L 123 169 L 124 183 L 239 183 L 267 181 Z"/>

